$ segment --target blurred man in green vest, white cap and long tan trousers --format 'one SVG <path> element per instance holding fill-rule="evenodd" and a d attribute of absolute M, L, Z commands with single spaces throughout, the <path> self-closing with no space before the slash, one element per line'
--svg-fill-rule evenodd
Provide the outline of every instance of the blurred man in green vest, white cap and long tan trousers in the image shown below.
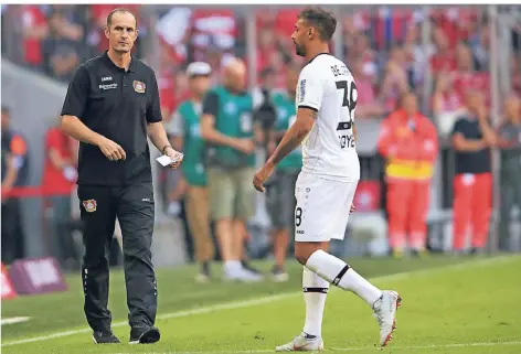
<path fill-rule="evenodd" d="M 209 197 L 204 170 L 204 140 L 201 137 L 200 117 L 203 97 L 210 87 L 211 67 L 203 62 L 191 63 L 187 68 L 191 98 L 182 101 L 170 124 L 172 144 L 184 152 L 181 164 L 188 184 L 185 194 L 187 222 L 194 243 L 194 258 L 200 265 L 196 280 L 210 278 L 210 261 L 214 245 L 210 236 Z"/>

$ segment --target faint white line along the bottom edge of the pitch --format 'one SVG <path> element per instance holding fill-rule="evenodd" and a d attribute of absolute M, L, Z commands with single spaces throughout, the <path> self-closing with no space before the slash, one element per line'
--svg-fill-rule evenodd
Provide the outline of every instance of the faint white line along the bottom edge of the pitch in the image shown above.
<path fill-rule="evenodd" d="M 481 342 L 481 343 L 454 343 L 454 344 L 432 344 L 432 345 L 390 345 L 385 350 L 425 350 L 425 348 L 448 348 L 448 347 L 482 347 L 482 346 L 501 346 L 501 345 L 520 345 L 521 341 L 511 342 Z M 376 346 L 360 346 L 360 347 L 336 347 L 331 351 L 336 352 L 360 352 L 360 351 L 376 351 Z M 274 353 L 275 350 L 258 350 L 258 351 L 221 351 L 221 352 L 147 352 L 143 354 L 255 354 L 255 353 Z M 116 354 L 131 354 L 130 352 L 120 352 Z"/>

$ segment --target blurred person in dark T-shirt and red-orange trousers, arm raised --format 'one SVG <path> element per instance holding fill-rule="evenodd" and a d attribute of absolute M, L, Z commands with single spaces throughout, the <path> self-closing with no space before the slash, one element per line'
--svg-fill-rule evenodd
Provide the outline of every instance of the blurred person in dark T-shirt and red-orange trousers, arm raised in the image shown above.
<path fill-rule="evenodd" d="M 482 94 L 466 93 L 467 112 L 455 124 L 456 175 L 454 179 L 453 248 L 461 254 L 471 225 L 471 253 L 481 253 L 487 244 L 492 207 L 490 147 L 496 135 L 490 128 Z"/>

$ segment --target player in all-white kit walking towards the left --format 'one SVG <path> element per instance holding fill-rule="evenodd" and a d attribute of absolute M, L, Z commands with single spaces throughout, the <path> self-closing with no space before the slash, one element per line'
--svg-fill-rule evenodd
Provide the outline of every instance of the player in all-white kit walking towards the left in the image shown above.
<path fill-rule="evenodd" d="M 402 300 L 396 291 L 375 288 L 327 251 L 332 238 L 344 237 L 360 180 L 354 129 L 357 85 L 345 64 L 329 54 L 328 43 L 336 28 L 334 17 L 322 9 L 306 9 L 298 15 L 291 39 L 297 55 L 308 64 L 297 85 L 297 120 L 253 181 L 255 189 L 264 192 L 263 184 L 275 165 L 301 144 L 302 170 L 295 187 L 295 256 L 304 266 L 306 322 L 302 333 L 277 346 L 278 352 L 323 350 L 321 324 L 330 283 L 354 292 L 371 305 L 380 325 L 381 346 L 392 339 Z"/>

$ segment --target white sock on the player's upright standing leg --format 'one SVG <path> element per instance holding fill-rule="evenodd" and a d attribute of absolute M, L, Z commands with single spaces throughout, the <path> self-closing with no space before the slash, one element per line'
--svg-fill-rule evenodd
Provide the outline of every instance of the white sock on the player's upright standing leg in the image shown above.
<path fill-rule="evenodd" d="M 306 322 L 304 332 L 310 335 L 322 335 L 322 317 L 326 298 L 328 297 L 329 282 L 304 267 L 302 290 L 306 302 Z"/>

